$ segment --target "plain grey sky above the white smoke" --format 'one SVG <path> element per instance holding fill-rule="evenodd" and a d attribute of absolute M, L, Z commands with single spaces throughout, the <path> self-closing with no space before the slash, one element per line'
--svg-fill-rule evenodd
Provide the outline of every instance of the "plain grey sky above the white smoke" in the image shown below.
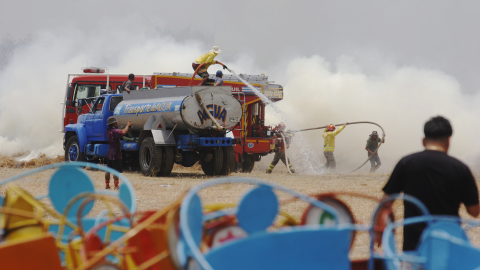
<path fill-rule="evenodd" d="M 440 69 L 455 76 L 463 91 L 475 92 L 479 11 L 477 1 L 434 0 L 11 1 L 2 7 L 0 37 L 65 27 L 89 32 L 108 24 L 112 31 L 216 44 L 225 59 L 248 54 L 261 68 L 288 56 L 320 53 L 333 60 L 373 54 L 399 65 Z"/>

